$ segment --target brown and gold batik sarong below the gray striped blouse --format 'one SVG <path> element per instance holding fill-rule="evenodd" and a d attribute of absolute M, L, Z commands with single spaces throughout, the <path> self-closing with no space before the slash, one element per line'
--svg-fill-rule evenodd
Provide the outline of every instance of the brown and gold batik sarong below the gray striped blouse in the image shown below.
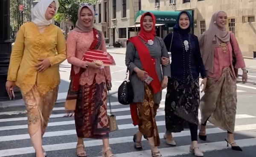
<path fill-rule="evenodd" d="M 145 97 L 143 103 L 137 103 L 139 131 L 146 137 L 154 137 L 155 146 L 160 145 L 155 116 L 159 104 L 154 103 L 154 94 L 145 84 Z"/>

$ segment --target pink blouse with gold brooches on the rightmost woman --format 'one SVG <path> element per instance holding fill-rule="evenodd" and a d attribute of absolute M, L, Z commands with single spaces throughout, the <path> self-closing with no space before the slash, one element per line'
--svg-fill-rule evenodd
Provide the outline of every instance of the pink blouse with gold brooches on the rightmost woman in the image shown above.
<path fill-rule="evenodd" d="M 231 43 L 226 46 L 226 53 L 224 53 L 221 46 L 214 48 L 214 60 L 213 60 L 213 73 L 209 77 L 214 77 L 216 79 L 221 77 L 223 69 L 230 67 L 233 71 L 233 76 L 235 76 L 235 71 L 232 65 L 232 50 L 236 56 L 236 69 L 245 68 L 244 58 L 242 56 L 241 50 L 239 49 L 238 42 L 233 33 L 230 33 Z"/>

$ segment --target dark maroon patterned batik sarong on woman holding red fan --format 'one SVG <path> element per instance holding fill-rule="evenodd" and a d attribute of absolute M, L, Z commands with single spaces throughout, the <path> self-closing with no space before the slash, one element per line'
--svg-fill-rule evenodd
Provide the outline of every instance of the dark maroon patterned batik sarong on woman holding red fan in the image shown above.
<path fill-rule="evenodd" d="M 106 83 L 79 85 L 75 110 L 76 133 L 80 138 L 109 137 Z"/>

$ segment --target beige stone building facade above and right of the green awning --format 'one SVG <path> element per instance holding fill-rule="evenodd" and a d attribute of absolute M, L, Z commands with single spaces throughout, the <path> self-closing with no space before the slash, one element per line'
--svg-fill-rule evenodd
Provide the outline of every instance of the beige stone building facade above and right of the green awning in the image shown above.
<path fill-rule="evenodd" d="M 256 0 L 141 0 L 141 9 L 193 10 L 194 34 L 197 36 L 208 29 L 215 11 L 225 11 L 227 30 L 236 35 L 243 56 L 253 57 L 253 51 L 256 51 Z"/>

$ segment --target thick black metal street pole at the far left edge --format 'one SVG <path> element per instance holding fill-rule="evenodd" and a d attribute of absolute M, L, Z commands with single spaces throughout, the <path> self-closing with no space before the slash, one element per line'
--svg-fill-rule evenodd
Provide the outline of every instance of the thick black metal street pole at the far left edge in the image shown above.
<path fill-rule="evenodd" d="M 12 52 L 10 39 L 10 0 L 0 0 L 0 101 L 9 100 L 6 79 Z M 15 99 L 21 99 L 20 90 L 14 89 Z"/>

